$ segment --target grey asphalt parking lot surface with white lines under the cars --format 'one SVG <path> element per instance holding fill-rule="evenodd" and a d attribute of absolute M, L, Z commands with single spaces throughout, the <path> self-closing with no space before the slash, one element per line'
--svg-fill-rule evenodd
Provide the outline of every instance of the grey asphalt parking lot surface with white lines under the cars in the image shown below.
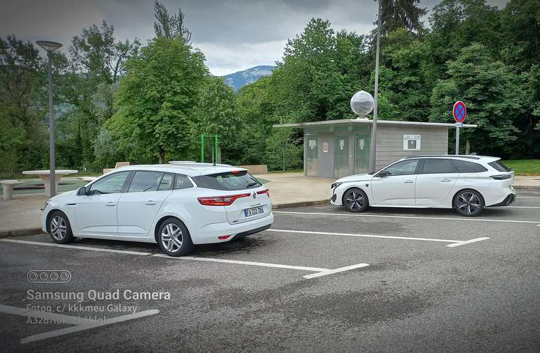
<path fill-rule="evenodd" d="M 477 218 L 329 205 L 274 216 L 271 230 L 179 258 L 155 244 L 0 239 L 3 350 L 540 346 L 540 190 L 520 190 L 513 206 Z M 32 270 L 70 279 L 47 283 Z M 36 298 L 42 292 L 73 296 Z M 104 292 L 113 297 L 92 298 Z"/>

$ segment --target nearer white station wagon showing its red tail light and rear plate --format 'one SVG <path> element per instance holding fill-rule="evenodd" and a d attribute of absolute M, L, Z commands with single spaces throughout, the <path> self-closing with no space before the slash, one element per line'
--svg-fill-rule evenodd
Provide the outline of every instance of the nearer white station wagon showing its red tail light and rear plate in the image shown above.
<path fill-rule="evenodd" d="M 56 243 L 75 237 L 158 243 L 163 253 L 222 243 L 269 229 L 267 188 L 230 165 L 174 163 L 120 167 L 45 204 L 43 231 Z"/>

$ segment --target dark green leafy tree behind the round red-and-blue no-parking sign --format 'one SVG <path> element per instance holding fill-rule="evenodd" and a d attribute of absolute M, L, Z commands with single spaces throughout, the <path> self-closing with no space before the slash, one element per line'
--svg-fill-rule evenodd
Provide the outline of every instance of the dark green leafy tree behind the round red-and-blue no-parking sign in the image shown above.
<path fill-rule="evenodd" d="M 513 73 L 501 61 L 494 61 L 486 47 L 473 44 L 449 61 L 448 80 L 437 83 L 431 97 L 430 121 L 449 123 L 451 108 L 457 100 L 467 105 L 467 123 L 478 125 L 464 129 L 463 137 L 472 151 L 497 155 L 511 151 L 518 129 L 513 125 L 520 112 L 520 100 Z"/>

